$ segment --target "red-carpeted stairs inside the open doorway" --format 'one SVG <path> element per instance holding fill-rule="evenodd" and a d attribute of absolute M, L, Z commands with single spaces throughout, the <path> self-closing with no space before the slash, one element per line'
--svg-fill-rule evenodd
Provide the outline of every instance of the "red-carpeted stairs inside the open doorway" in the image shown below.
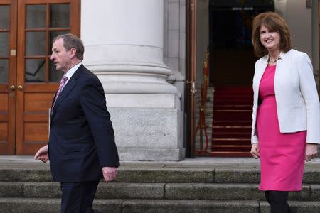
<path fill-rule="evenodd" d="M 252 87 L 215 87 L 213 156 L 251 157 Z"/>

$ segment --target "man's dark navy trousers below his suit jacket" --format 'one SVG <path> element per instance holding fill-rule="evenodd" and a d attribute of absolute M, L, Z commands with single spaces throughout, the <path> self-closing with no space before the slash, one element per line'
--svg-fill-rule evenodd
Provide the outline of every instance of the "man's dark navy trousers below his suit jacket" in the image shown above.
<path fill-rule="evenodd" d="M 61 213 L 92 212 L 92 202 L 95 198 L 99 181 L 61 182 Z"/>

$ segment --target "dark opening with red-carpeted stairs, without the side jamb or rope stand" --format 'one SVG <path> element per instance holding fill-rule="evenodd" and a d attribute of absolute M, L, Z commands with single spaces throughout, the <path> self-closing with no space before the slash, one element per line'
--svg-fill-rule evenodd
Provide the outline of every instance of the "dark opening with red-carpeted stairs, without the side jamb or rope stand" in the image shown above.
<path fill-rule="evenodd" d="M 255 58 L 252 20 L 274 11 L 270 0 L 211 0 L 210 85 L 213 86 L 212 156 L 250 156 L 252 77 Z"/>

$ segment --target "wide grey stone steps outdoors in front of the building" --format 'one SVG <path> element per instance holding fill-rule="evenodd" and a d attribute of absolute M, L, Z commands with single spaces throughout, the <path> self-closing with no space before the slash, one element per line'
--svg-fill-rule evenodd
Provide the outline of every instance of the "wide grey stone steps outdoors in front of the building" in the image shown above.
<path fill-rule="evenodd" d="M 257 160 L 196 158 L 167 163 L 122 163 L 117 182 L 101 182 L 99 212 L 269 212 Z M 59 212 L 60 184 L 48 164 L 0 160 L 0 212 Z M 320 159 L 307 163 L 301 192 L 289 195 L 296 212 L 320 212 Z"/>

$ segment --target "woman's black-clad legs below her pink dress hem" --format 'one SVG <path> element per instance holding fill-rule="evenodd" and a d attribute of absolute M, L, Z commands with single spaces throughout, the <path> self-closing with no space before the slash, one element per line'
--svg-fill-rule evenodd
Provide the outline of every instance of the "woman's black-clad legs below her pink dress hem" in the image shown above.
<path fill-rule="evenodd" d="M 288 192 L 265 191 L 265 198 L 270 204 L 271 213 L 290 213 L 292 209 L 288 204 Z"/>

